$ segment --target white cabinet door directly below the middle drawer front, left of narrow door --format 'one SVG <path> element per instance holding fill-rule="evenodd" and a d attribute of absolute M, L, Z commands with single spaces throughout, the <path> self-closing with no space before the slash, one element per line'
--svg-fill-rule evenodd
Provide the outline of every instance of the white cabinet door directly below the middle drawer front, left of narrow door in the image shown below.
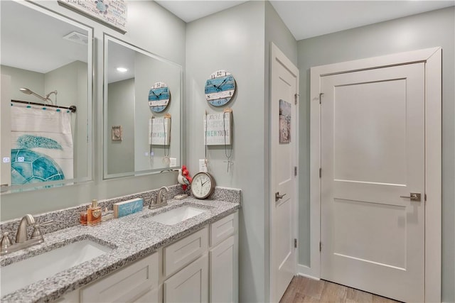
<path fill-rule="evenodd" d="M 164 303 L 166 302 L 208 302 L 207 254 L 164 281 Z"/>

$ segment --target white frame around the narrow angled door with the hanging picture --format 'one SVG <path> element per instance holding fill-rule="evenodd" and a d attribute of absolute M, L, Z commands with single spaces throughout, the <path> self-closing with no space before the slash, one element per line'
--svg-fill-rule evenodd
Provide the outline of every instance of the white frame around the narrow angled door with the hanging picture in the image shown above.
<path fill-rule="evenodd" d="M 291 62 L 291 60 L 289 60 L 289 58 L 282 52 L 282 50 L 280 50 L 277 45 L 275 45 L 273 42 L 270 43 L 270 56 L 269 56 L 269 117 L 270 117 L 270 120 L 272 120 L 272 73 L 275 71 L 274 69 L 274 61 L 280 61 L 283 63 L 284 66 L 286 66 L 288 68 L 288 70 L 296 75 L 296 104 L 295 104 L 295 115 L 294 115 L 294 119 L 296 119 L 295 121 L 295 136 L 292 140 L 294 140 L 294 159 L 292 160 L 292 162 L 294 162 L 294 165 L 296 167 L 299 167 L 299 157 L 298 157 L 298 151 L 299 151 L 299 69 L 298 67 L 296 67 L 294 65 L 294 63 Z M 291 67 L 295 67 L 295 70 L 294 68 L 292 69 L 289 69 L 289 66 Z M 272 123 L 269 123 L 269 134 L 272 134 L 272 127 L 277 127 L 276 125 L 272 125 Z M 270 137 L 270 136 L 269 136 Z M 272 164 L 273 164 L 273 161 L 274 161 L 274 150 L 272 149 L 272 139 L 270 139 L 270 142 L 269 142 L 269 147 L 270 147 L 270 158 L 269 158 L 269 171 L 272 172 Z M 268 296 L 269 296 L 269 301 L 272 300 L 273 298 L 273 294 L 274 294 L 274 288 L 272 287 L 272 285 L 274 285 L 274 275 L 273 275 L 273 270 L 272 270 L 272 266 L 274 265 L 274 258 L 272 258 L 272 233 L 273 233 L 273 226 L 272 226 L 272 220 L 274 219 L 272 217 L 272 207 L 274 207 L 275 205 L 275 196 L 274 196 L 274 188 L 272 186 L 273 182 L 274 182 L 274 177 L 272 176 L 272 173 L 270 173 L 270 178 L 269 178 L 269 234 L 268 234 L 268 241 L 269 241 L 269 251 L 268 251 L 268 254 L 269 254 L 269 279 L 268 279 Z M 292 233 L 294 233 L 294 237 L 296 239 L 299 238 L 299 234 L 298 234 L 298 228 L 297 228 L 297 224 L 298 224 L 298 214 L 299 214 L 299 189 L 298 189 L 298 185 L 299 184 L 299 174 L 295 175 L 294 176 L 294 218 L 293 218 L 293 230 L 292 230 Z M 295 248 L 295 260 L 294 260 L 294 275 L 297 274 L 297 264 L 298 264 L 298 255 L 299 255 L 299 246 L 297 246 L 297 248 Z"/>

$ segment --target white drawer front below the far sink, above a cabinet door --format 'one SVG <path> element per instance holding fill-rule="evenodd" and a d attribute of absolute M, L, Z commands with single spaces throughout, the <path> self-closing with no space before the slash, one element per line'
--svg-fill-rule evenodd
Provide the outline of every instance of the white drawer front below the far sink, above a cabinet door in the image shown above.
<path fill-rule="evenodd" d="M 163 250 L 163 275 L 167 277 L 200 257 L 208 248 L 208 227 L 172 243 Z"/>

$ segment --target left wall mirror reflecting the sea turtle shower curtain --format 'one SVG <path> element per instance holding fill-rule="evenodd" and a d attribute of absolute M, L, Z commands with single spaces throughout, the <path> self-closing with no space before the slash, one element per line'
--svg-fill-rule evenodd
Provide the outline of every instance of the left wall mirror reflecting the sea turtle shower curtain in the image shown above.
<path fill-rule="evenodd" d="M 27 1 L 1 6 L 1 192 L 92 179 L 88 26 Z"/>

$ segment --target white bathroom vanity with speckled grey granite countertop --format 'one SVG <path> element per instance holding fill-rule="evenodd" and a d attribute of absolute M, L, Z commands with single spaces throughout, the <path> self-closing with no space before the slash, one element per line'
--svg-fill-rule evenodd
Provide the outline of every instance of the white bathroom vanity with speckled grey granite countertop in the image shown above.
<path fill-rule="evenodd" d="M 2 256 L 1 265 L 78 241 L 106 251 L 2 294 L 1 302 L 237 302 L 240 195 L 217 188 L 213 199 L 170 200 L 98 226 L 46 233 L 44 243 Z"/>

